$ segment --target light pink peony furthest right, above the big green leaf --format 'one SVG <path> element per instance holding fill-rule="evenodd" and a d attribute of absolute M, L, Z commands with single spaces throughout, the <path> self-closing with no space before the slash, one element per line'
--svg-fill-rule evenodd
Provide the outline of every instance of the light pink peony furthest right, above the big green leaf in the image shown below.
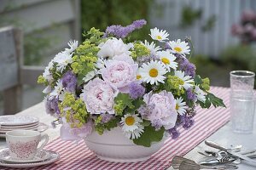
<path fill-rule="evenodd" d="M 161 91 L 159 94 L 153 94 L 152 91 L 143 96 L 146 105 L 151 106 L 152 110 L 143 118 L 151 122 L 158 122 L 167 129 L 175 126 L 177 121 L 176 103 L 172 93 Z"/>

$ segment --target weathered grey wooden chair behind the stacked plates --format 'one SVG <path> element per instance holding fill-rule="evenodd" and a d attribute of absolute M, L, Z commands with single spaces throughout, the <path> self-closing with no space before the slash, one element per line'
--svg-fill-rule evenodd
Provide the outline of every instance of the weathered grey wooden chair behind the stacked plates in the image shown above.
<path fill-rule="evenodd" d="M 44 67 L 23 65 L 22 31 L 11 26 L 0 28 L 0 91 L 3 114 L 21 111 L 22 85 L 37 84 Z"/>

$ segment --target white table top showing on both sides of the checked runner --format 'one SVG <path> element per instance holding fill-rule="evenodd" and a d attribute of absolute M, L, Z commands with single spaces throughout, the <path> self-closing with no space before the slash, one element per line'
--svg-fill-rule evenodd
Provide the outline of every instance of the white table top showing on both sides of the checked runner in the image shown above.
<path fill-rule="evenodd" d="M 25 111 L 21 111 L 17 114 L 38 116 L 38 118 L 40 119 L 40 122 L 44 122 L 45 124 L 49 125 L 49 129 L 44 132 L 49 135 L 49 141 L 59 137 L 60 126 L 56 128 L 50 127 L 50 122 L 54 120 L 54 117 L 46 114 L 43 103 L 34 105 L 26 109 Z M 254 118 L 255 118 L 254 120 L 256 120 L 256 116 Z M 253 133 L 251 134 L 233 133 L 230 129 L 230 123 L 227 123 L 226 125 L 224 125 L 224 127 L 221 127 L 217 132 L 213 133 L 208 139 L 215 141 L 218 144 L 223 144 L 224 146 L 242 144 L 244 150 L 256 149 L 256 121 L 254 121 L 254 130 L 253 130 Z M 0 139 L 0 148 L 3 148 L 5 146 L 6 146 L 5 139 Z M 193 150 L 190 150 L 185 157 L 189 159 L 193 159 L 195 161 L 199 161 L 202 158 L 202 156 L 198 154 L 197 151 L 203 150 L 205 148 L 207 148 L 207 146 L 204 144 L 204 142 L 202 142 L 201 144 L 197 145 Z M 172 167 L 168 168 L 168 170 L 171 170 L 171 169 L 173 168 Z M 255 170 L 256 167 L 248 166 L 245 163 L 241 163 L 239 165 L 239 169 Z"/>

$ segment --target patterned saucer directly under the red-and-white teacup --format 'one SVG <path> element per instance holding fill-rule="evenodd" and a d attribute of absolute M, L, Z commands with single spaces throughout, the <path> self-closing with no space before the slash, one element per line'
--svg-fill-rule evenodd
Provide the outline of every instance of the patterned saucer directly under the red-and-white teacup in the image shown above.
<path fill-rule="evenodd" d="M 49 150 L 40 150 L 38 154 L 32 160 L 14 160 L 9 156 L 9 148 L 0 150 L 0 160 L 8 163 L 32 163 L 38 161 L 48 160 L 50 157 Z"/>

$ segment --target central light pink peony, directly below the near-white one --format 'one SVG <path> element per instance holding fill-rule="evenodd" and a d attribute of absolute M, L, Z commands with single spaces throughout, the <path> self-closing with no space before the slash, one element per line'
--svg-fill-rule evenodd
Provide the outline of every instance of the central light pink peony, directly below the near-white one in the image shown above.
<path fill-rule="evenodd" d="M 121 93 L 129 93 L 129 84 L 136 81 L 138 65 L 126 55 L 116 55 L 106 62 L 106 68 L 102 69 L 102 78 Z"/>

